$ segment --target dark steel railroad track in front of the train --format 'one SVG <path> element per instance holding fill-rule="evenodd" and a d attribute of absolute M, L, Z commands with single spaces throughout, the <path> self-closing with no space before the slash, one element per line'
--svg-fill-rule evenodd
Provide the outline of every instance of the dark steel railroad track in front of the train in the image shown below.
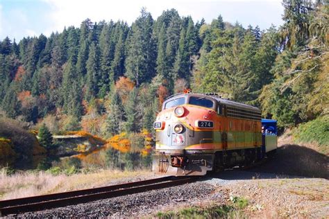
<path fill-rule="evenodd" d="M 142 193 L 144 191 L 163 189 L 170 186 L 178 186 L 189 182 L 195 182 L 197 179 L 199 179 L 199 177 L 167 176 L 94 189 L 83 189 L 65 193 L 54 193 L 50 195 L 38 195 L 28 198 L 3 200 L 0 201 L 0 216 L 65 207 L 72 204 L 81 204 L 85 202 L 92 202 L 94 200 L 114 198 L 121 195 Z"/>

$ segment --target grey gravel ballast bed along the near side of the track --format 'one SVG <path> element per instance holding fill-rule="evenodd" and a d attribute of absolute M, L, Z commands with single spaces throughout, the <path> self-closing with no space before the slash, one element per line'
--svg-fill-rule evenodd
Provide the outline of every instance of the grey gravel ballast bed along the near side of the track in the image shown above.
<path fill-rule="evenodd" d="M 210 196 L 216 189 L 205 182 L 195 182 L 166 189 L 148 191 L 117 198 L 98 200 L 85 204 L 28 212 L 22 218 L 49 217 L 105 217 L 140 216 L 161 211 L 163 207 L 182 202 L 198 202 Z"/>

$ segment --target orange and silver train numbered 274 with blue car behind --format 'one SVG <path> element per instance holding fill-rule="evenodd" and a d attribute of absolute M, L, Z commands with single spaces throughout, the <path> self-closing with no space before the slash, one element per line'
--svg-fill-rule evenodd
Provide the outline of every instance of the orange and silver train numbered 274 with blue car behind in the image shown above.
<path fill-rule="evenodd" d="M 153 171 L 206 175 L 248 166 L 276 152 L 276 120 L 258 107 L 187 91 L 167 98 L 153 123 Z"/>

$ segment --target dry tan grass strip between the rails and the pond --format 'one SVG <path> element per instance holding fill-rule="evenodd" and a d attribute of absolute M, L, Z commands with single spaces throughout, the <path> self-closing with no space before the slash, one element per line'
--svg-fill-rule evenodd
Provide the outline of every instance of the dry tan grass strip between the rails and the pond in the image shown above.
<path fill-rule="evenodd" d="M 131 181 L 132 178 L 148 177 L 151 175 L 146 170 L 99 170 L 96 173 L 79 173 L 70 176 L 54 176 L 44 172 L 24 172 L 6 175 L 3 169 L 0 170 L 0 200 L 88 189 L 115 184 L 120 180 L 121 182 L 125 182 Z"/>

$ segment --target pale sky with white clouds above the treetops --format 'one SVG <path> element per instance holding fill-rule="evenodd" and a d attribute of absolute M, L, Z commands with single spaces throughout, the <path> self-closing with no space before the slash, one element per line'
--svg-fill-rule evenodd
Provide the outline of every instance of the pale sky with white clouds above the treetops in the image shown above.
<path fill-rule="evenodd" d="M 179 15 L 192 16 L 194 22 L 210 23 L 219 15 L 224 21 L 238 21 L 245 28 L 260 26 L 262 30 L 282 24 L 282 0 L 0 0 L 0 40 L 9 37 L 17 42 L 52 32 L 66 26 L 80 26 L 92 21 L 122 20 L 132 24 L 145 7 L 153 19 L 163 10 L 175 8 Z"/>

